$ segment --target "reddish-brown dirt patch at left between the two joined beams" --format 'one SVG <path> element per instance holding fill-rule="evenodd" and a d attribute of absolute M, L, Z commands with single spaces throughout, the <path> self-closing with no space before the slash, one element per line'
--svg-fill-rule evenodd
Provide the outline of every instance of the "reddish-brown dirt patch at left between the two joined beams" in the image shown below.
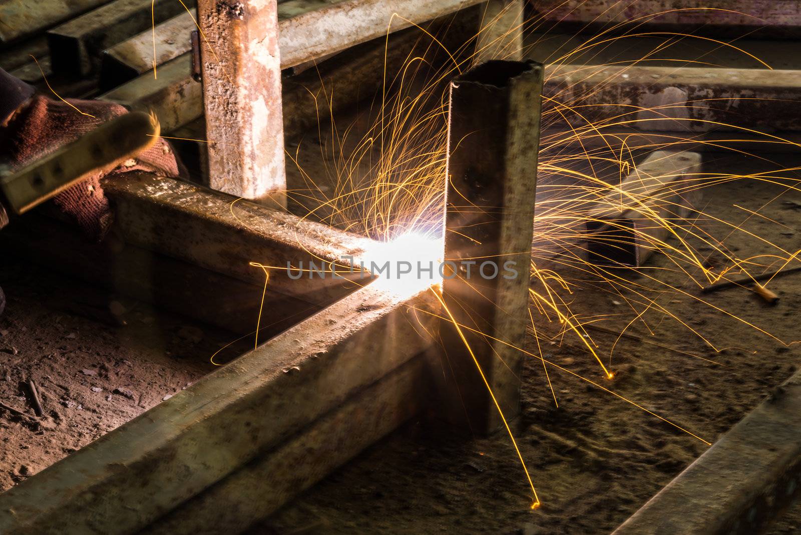
<path fill-rule="evenodd" d="M 231 336 L 0 254 L 0 491 L 215 368 Z M 34 380 L 44 416 L 34 414 Z"/>

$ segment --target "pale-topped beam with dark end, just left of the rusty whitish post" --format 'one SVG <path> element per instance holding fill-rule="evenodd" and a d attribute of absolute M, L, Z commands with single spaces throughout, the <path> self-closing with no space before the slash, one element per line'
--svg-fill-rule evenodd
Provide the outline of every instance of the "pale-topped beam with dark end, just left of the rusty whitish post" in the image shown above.
<path fill-rule="evenodd" d="M 156 66 L 186 54 L 191 50 L 190 35 L 195 30 L 195 9 L 176 15 L 155 26 L 153 30 L 127 38 L 103 50 L 100 63 L 100 91 L 108 91 L 153 70 Z M 155 35 L 155 58 L 153 38 Z"/>

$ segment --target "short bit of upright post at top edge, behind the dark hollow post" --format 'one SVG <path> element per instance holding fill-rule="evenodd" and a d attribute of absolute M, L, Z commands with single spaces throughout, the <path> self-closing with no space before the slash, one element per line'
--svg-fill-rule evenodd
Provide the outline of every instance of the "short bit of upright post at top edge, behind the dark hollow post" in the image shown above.
<path fill-rule="evenodd" d="M 481 7 L 473 65 L 490 59 L 523 58 L 523 0 L 489 0 Z"/>

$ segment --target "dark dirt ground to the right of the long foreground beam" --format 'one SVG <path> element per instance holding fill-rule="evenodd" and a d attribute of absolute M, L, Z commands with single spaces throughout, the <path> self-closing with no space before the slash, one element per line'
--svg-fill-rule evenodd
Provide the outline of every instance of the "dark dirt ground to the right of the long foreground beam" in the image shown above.
<path fill-rule="evenodd" d="M 794 167 L 799 156 L 766 158 L 775 163 L 705 155 L 703 171 L 746 174 Z M 799 203 L 797 191 L 743 179 L 706 189 L 702 210 L 796 251 L 801 248 Z M 697 224 L 740 258 L 777 251 L 709 218 Z M 690 240 L 710 265 L 722 263 L 711 247 Z M 617 336 L 588 330 L 603 359 L 610 359 L 615 344 L 611 367 L 617 376 L 612 382 L 602 379 L 597 362 L 574 335 L 557 337 L 542 351 L 548 360 L 714 442 L 801 365 L 799 344 L 785 344 L 801 340 L 801 274 L 771 284 L 780 297 L 772 307 L 741 288 L 702 296 L 706 305 L 698 301 L 698 286 L 664 256 L 655 256 L 649 265 L 651 273 L 675 288 L 655 294 L 658 302 L 688 328 L 651 310 L 617 344 Z M 614 332 L 626 327 L 630 309 L 619 296 L 586 276 L 567 271 L 562 276 L 580 288 L 571 304 L 579 317 L 608 315 L 595 325 Z M 630 280 L 657 288 L 646 276 Z M 539 318 L 537 328 L 558 334 L 556 324 Z M 527 349 L 537 352 L 533 336 Z M 610 533 L 707 449 L 701 440 L 576 376 L 552 368 L 550 380 L 558 408 L 541 361 L 527 361 L 522 416 L 513 424 L 540 493 L 540 509 L 529 509 L 525 476 L 509 436 L 464 440 L 416 420 L 253 533 Z M 801 508 L 775 525 L 773 533 L 801 533 Z"/>

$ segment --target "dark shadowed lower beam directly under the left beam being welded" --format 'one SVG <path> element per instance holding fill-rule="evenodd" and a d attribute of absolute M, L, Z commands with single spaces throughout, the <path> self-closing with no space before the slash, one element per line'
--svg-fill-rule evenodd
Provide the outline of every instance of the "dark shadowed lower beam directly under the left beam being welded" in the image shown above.
<path fill-rule="evenodd" d="M 257 322 L 259 338 L 267 340 L 322 308 L 269 288 L 264 292 L 264 280 L 248 283 L 126 243 L 114 231 L 103 243 L 91 243 L 77 230 L 44 216 L 28 215 L 24 222 L 4 228 L 0 243 L 3 251 L 19 259 L 47 268 L 58 265 L 58 271 L 111 295 L 153 304 L 237 336 L 249 335 L 249 340 Z M 269 306 L 261 306 L 262 292 Z"/>

